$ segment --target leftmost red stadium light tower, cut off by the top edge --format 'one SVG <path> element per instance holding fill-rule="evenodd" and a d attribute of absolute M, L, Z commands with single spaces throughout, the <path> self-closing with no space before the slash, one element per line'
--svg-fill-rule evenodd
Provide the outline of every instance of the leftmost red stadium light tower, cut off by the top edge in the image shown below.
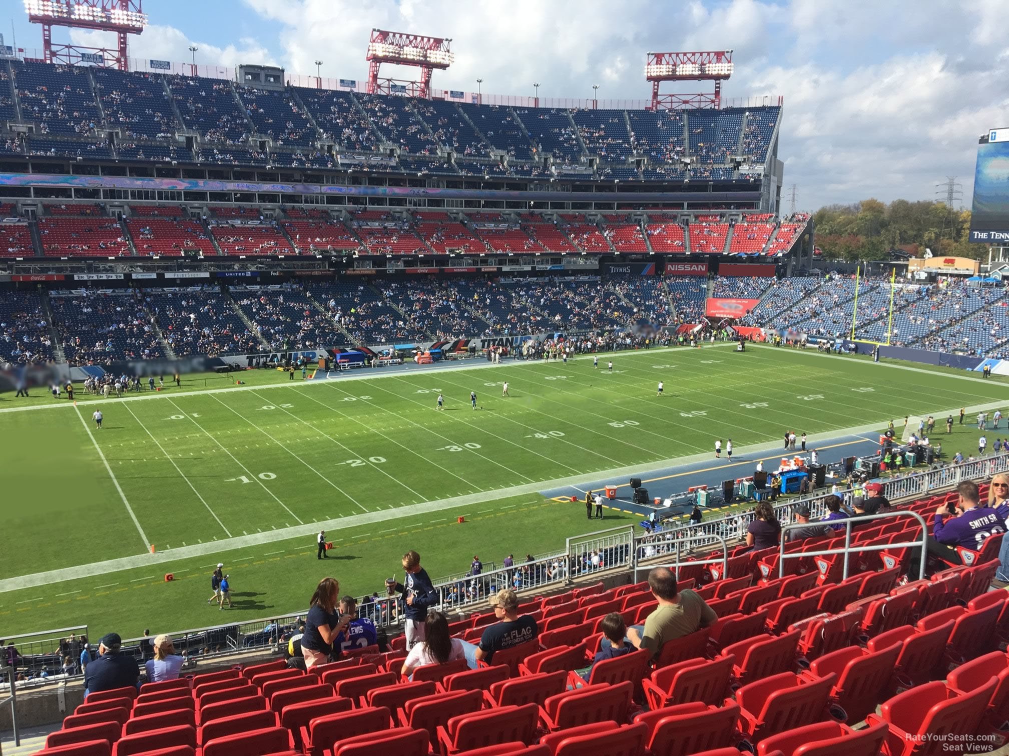
<path fill-rule="evenodd" d="M 24 0 L 30 23 L 42 25 L 42 55 L 45 62 L 93 62 L 128 71 L 126 35 L 139 34 L 147 25 L 142 0 Z M 53 44 L 52 27 L 111 31 L 117 48 Z"/>

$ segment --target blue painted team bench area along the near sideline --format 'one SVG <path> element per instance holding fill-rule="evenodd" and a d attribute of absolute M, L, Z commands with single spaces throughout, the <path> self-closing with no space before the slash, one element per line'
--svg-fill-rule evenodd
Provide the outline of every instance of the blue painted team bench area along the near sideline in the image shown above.
<path fill-rule="evenodd" d="M 813 447 L 809 447 L 813 449 Z M 875 454 L 879 450 L 879 443 L 869 435 L 843 435 L 823 442 L 816 446 L 821 464 L 840 462 L 846 457 L 865 457 Z M 659 497 L 666 499 L 673 494 L 683 493 L 693 486 L 707 485 L 709 489 L 720 489 L 721 482 L 732 478 L 734 481 L 739 478 L 749 478 L 754 474 L 758 461 L 763 461 L 764 469 L 767 471 L 777 470 L 781 460 L 785 457 L 806 456 L 802 452 L 785 452 L 784 450 L 761 452 L 759 454 L 746 454 L 736 451 L 733 460 L 730 462 L 722 452 L 721 459 L 714 458 L 703 462 L 695 462 L 688 465 L 680 465 L 671 468 L 660 468 L 658 470 L 642 470 L 640 473 L 642 486 L 648 489 L 649 499 Z M 644 466 L 643 466 L 644 467 Z M 582 499 L 586 491 L 601 493 L 607 485 L 616 486 L 616 501 L 613 505 L 630 511 L 638 511 L 631 502 L 631 484 L 624 480 L 598 480 L 586 483 L 584 486 L 568 486 L 565 488 L 555 488 L 543 491 L 543 496 L 548 499 L 576 496 Z M 644 511 L 644 510 L 641 510 Z"/>

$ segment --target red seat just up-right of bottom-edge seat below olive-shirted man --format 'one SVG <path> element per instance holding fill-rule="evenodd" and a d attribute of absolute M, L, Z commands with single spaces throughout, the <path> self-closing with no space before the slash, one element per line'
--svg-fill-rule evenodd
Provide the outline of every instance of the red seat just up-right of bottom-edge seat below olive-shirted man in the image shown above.
<path fill-rule="evenodd" d="M 830 688 L 836 676 L 803 677 L 775 674 L 736 691 L 740 729 L 751 743 L 826 719 Z"/>

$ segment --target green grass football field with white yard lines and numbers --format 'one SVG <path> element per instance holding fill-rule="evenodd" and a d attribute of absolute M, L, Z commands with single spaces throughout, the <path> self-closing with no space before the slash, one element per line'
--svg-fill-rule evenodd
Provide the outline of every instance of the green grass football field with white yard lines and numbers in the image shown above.
<path fill-rule="evenodd" d="M 708 453 L 715 437 L 742 450 L 789 428 L 882 428 L 1007 396 L 999 379 L 770 347 L 618 353 L 612 373 L 608 359 L 598 369 L 589 357 L 307 383 L 259 371 L 241 376 L 244 387 L 191 376 L 149 398 L 79 394 L 77 408 L 4 394 L 0 410 L 32 408 L 0 411 L 0 581 L 64 572 L 0 593 L 2 633 L 87 623 L 126 637 L 218 624 L 205 603 L 217 561 L 232 577 L 239 616 L 229 622 L 301 611 L 327 574 L 355 595 L 380 589 L 407 548 L 435 578 L 464 571 L 473 553 L 499 562 L 562 548 L 593 528 L 539 493 L 548 481 L 646 473 Z M 977 435 L 963 426 L 954 438 L 966 453 Z M 636 520 L 614 512 L 605 525 Z M 321 563 L 316 525 L 333 521 L 335 558 Z M 179 556 L 150 563 L 149 544 Z M 94 566 L 121 557 L 139 558 Z"/>

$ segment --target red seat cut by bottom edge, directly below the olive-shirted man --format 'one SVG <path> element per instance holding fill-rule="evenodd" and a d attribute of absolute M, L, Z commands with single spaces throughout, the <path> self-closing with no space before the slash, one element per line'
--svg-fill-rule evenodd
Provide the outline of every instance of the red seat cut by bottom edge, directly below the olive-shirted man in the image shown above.
<path fill-rule="evenodd" d="M 634 721 L 648 725 L 649 753 L 689 756 L 733 744 L 739 717 L 740 708 L 732 702 L 721 708 L 695 702 L 654 709 Z"/>

